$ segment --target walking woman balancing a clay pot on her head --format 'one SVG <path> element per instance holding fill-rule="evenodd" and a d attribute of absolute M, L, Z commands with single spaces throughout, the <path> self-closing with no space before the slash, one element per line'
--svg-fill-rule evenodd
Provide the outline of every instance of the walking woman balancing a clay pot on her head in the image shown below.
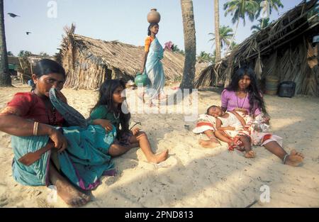
<path fill-rule="evenodd" d="M 146 89 L 146 94 L 150 96 L 150 106 L 153 99 L 164 99 L 165 76 L 162 66 L 164 50 L 156 38 L 159 26 L 157 23 L 150 23 L 147 29 L 147 38 L 145 39 L 145 53 L 142 61 L 142 74 L 147 74 L 150 84 Z M 144 99 L 144 94 L 143 94 Z"/>

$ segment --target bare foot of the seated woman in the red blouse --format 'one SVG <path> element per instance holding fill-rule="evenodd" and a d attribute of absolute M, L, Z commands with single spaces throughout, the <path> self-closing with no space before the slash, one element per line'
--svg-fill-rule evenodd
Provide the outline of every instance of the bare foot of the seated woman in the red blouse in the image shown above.
<path fill-rule="evenodd" d="M 70 206 L 83 206 L 91 199 L 90 196 L 79 192 L 68 182 L 57 180 L 55 186 L 57 187 L 57 195 Z"/>

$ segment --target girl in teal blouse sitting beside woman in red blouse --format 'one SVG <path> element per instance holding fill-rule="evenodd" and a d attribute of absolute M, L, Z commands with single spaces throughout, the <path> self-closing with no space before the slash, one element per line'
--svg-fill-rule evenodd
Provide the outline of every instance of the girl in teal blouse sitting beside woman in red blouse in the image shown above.
<path fill-rule="evenodd" d="M 124 103 L 124 89 L 125 83 L 122 80 L 108 79 L 103 82 L 99 91 L 99 100 L 91 110 L 91 123 L 100 124 L 107 130 L 111 130 L 112 126 L 116 127 L 117 139 L 113 145 L 118 150 L 118 154 L 140 146 L 149 162 L 159 163 L 166 160 L 168 150 L 155 154 L 146 133 L 139 128 L 133 128 L 130 131 L 130 113 Z"/>

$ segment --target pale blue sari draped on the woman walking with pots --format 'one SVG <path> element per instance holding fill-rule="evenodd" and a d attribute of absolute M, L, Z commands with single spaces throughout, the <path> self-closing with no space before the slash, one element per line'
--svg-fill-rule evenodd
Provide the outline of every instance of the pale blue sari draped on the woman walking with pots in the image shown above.
<path fill-rule="evenodd" d="M 150 45 L 150 51 L 147 55 L 145 64 L 145 73 L 150 79 L 150 84 L 147 87 L 146 93 L 150 96 L 150 99 L 155 99 L 158 94 L 163 90 L 165 84 L 164 70 L 162 66 L 162 60 L 164 50 L 157 38 L 152 40 Z"/>

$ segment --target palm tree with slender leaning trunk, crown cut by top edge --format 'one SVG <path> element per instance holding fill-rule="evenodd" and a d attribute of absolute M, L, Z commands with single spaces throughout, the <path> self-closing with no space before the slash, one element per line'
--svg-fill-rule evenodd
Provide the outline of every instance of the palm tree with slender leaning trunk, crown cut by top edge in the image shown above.
<path fill-rule="evenodd" d="M 244 26 L 246 24 L 245 22 L 246 16 L 248 16 L 250 21 L 254 21 L 254 16 L 256 12 L 259 10 L 259 4 L 257 3 L 256 0 L 230 0 L 224 4 L 224 10 L 225 10 L 225 16 L 227 16 L 228 13 L 230 13 L 230 15 L 233 16 L 232 18 L 233 24 L 237 22 L 233 38 L 232 40 L 230 40 L 230 45 L 231 45 L 231 43 L 233 43 L 233 40 L 235 38 L 238 24 L 240 22 L 240 18 L 242 18 L 242 22 Z M 229 49 L 230 48 L 228 47 L 228 50 Z"/>

